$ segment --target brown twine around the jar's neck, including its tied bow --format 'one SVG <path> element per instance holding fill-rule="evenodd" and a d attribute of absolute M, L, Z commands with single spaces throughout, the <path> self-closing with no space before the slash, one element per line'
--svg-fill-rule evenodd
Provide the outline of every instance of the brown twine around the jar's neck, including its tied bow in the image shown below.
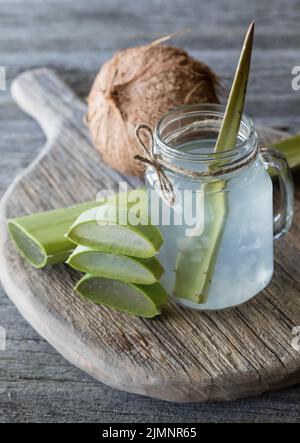
<path fill-rule="evenodd" d="M 148 146 L 146 146 L 146 144 L 143 141 L 142 138 L 143 132 L 147 135 Z M 138 125 L 135 130 L 135 136 L 140 147 L 143 149 L 146 155 L 142 156 L 136 154 L 134 156 L 134 159 L 148 166 L 151 166 L 155 170 L 158 177 L 159 186 L 162 195 L 170 206 L 173 206 L 175 203 L 175 192 L 171 180 L 168 178 L 163 168 L 169 169 L 172 172 L 182 174 L 185 177 L 191 177 L 191 178 L 218 177 L 219 175 L 224 175 L 229 172 L 234 172 L 240 169 L 241 167 L 246 166 L 257 156 L 257 154 L 260 151 L 265 150 L 264 148 L 259 148 L 258 146 L 256 146 L 256 148 L 253 150 L 253 152 L 251 152 L 249 156 L 247 156 L 244 160 L 241 160 L 238 163 L 235 163 L 231 166 L 230 165 L 226 165 L 224 167 L 218 166 L 215 169 L 208 169 L 206 171 L 193 171 L 191 169 L 181 168 L 180 166 L 166 162 L 160 154 L 156 154 L 154 152 L 154 138 L 150 126 L 146 124 Z"/>

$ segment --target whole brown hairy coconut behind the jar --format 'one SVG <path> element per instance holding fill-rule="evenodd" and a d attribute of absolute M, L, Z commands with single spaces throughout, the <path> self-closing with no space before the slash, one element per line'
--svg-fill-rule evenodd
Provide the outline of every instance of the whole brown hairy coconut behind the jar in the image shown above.
<path fill-rule="evenodd" d="M 152 129 L 167 111 L 183 104 L 218 103 L 219 79 L 185 51 L 150 44 L 118 51 L 98 73 L 88 96 L 87 124 L 105 162 L 143 175 L 135 128 Z"/>

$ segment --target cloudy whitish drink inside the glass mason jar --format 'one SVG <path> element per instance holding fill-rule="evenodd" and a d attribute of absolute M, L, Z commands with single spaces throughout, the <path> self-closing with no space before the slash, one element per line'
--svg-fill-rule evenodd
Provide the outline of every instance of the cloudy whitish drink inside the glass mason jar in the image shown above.
<path fill-rule="evenodd" d="M 204 151 L 203 146 L 205 146 Z M 189 153 L 212 152 L 214 141 L 201 140 L 186 144 L 177 149 Z M 186 168 L 203 170 L 203 164 L 191 162 Z M 207 166 L 206 166 L 207 167 Z M 147 174 L 148 182 L 154 185 L 155 173 Z M 222 178 L 223 179 L 223 178 Z M 193 309 L 214 310 L 241 304 L 260 292 L 270 281 L 273 274 L 273 208 L 272 181 L 259 161 L 224 177 L 224 191 L 227 214 L 223 231 L 218 242 L 217 258 L 213 267 L 211 283 L 204 303 L 195 303 L 174 294 L 176 282 L 176 261 L 182 244 L 186 244 L 186 225 L 159 225 L 164 237 L 164 245 L 159 253 L 159 260 L 165 268 L 162 284 L 178 301 Z M 205 185 L 189 182 L 176 176 L 174 186 L 179 189 L 205 189 Z M 196 198 L 196 197 L 195 197 Z M 210 223 L 209 196 L 204 193 L 204 226 Z M 192 237 L 190 248 L 195 250 L 193 269 L 197 270 L 197 260 L 206 253 L 205 244 L 210 239 L 202 235 Z M 199 248 L 199 245 L 201 247 Z"/>

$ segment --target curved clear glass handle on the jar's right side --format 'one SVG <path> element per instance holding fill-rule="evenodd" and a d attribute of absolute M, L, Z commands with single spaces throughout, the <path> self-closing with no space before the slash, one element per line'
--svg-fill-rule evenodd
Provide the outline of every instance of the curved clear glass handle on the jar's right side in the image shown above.
<path fill-rule="evenodd" d="M 271 177 L 274 169 L 279 180 L 282 204 L 280 211 L 274 215 L 273 236 L 276 240 L 290 228 L 294 211 L 294 186 L 290 167 L 286 157 L 278 149 L 268 147 L 260 149 L 260 158 Z"/>

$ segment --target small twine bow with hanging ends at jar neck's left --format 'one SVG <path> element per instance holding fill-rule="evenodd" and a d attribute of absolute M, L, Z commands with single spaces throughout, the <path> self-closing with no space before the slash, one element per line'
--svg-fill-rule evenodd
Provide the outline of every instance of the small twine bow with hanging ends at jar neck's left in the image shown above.
<path fill-rule="evenodd" d="M 143 132 L 144 134 L 147 135 L 148 146 L 146 146 L 146 144 L 143 141 L 142 137 Z M 145 124 L 138 125 L 138 127 L 135 130 L 135 136 L 137 138 L 139 145 L 144 150 L 145 156 L 137 154 L 134 156 L 134 159 L 140 161 L 141 163 L 151 166 L 155 170 L 158 177 L 159 186 L 162 195 L 164 199 L 170 204 L 170 206 L 173 206 L 175 203 L 174 188 L 171 181 L 163 171 L 161 156 L 159 154 L 155 154 L 154 152 L 154 139 L 153 139 L 152 129 L 150 128 L 150 126 Z"/>

